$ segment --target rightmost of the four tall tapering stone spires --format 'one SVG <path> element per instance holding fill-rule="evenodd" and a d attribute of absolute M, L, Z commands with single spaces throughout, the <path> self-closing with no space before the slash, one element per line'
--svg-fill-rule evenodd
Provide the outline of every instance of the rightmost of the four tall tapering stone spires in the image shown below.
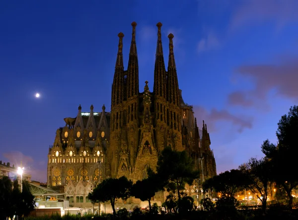
<path fill-rule="evenodd" d="M 173 51 L 173 34 L 168 35 L 169 38 L 169 62 L 168 62 L 168 78 L 167 78 L 167 97 L 170 103 L 179 106 L 179 86 L 176 72 L 174 51 Z"/>

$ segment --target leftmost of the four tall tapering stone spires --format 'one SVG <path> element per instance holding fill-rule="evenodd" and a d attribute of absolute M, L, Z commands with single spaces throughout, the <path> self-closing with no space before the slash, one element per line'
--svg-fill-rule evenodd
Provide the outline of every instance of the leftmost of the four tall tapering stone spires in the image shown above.
<path fill-rule="evenodd" d="M 114 74 L 114 80 L 112 85 L 112 107 L 114 105 L 120 104 L 123 101 L 123 72 L 124 72 L 124 66 L 123 66 L 123 43 L 122 39 L 124 37 L 124 34 L 120 32 L 118 34 L 119 37 L 119 44 L 118 44 L 118 54 L 117 54 L 117 60 L 116 60 L 116 66 L 115 66 L 115 74 Z"/>

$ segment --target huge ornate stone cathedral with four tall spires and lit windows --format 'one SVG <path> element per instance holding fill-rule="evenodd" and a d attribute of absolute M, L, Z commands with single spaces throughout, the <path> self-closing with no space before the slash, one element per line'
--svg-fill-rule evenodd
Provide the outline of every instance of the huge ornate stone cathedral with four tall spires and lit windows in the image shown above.
<path fill-rule="evenodd" d="M 193 108 L 184 103 L 178 86 L 174 35 L 168 35 L 166 70 L 162 24 L 157 23 L 153 91 L 146 81 L 140 92 L 136 26 L 133 22 L 127 70 L 123 64 L 124 34 L 118 34 L 111 112 L 106 112 L 104 105 L 101 112 L 93 111 L 93 105 L 82 112 L 79 105 L 77 116 L 64 119 L 66 125 L 57 130 L 49 149 L 48 187 L 60 188 L 75 207 L 86 206 L 88 193 L 104 178 L 124 175 L 134 182 L 146 178 L 147 168 L 156 169 L 158 154 L 166 146 L 188 152 L 200 170 L 198 181 L 216 175 L 207 125 L 203 121 L 199 129 Z"/>

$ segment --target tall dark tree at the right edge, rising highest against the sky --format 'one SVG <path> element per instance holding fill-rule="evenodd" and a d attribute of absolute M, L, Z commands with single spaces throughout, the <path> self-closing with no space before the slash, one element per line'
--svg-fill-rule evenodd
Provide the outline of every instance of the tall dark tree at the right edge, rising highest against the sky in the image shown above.
<path fill-rule="evenodd" d="M 289 198 L 289 207 L 293 207 L 292 190 L 298 186 L 298 176 L 293 173 L 298 153 L 298 106 L 290 108 L 288 115 L 283 115 L 278 123 L 276 136 L 278 145 L 267 140 L 262 145 L 262 152 L 269 158 L 273 172 L 272 179 L 282 185 Z"/>

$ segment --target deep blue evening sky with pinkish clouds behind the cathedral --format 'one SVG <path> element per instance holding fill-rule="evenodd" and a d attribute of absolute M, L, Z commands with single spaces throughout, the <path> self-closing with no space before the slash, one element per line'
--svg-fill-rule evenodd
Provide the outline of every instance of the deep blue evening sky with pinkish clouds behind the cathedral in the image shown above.
<path fill-rule="evenodd" d="M 208 125 L 218 173 L 261 158 L 298 99 L 297 0 L 0 1 L 0 159 L 46 181 L 47 154 L 77 107 L 110 111 L 119 32 L 137 26 L 140 92 L 153 89 L 157 22 L 183 99 Z M 35 98 L 35 93 L 40 98 Z"/>

